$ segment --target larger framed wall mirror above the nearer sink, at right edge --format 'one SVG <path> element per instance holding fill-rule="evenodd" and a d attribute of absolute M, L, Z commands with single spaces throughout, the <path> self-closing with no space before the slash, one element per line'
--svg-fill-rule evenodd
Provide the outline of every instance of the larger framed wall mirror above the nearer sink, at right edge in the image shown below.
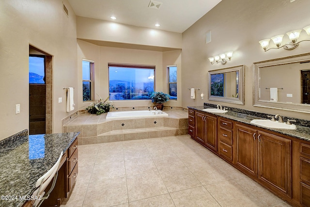
<path fill-rule="evenodd" d="M 253 64 L 253 106 L 310 113 L 310 53 Z"/>

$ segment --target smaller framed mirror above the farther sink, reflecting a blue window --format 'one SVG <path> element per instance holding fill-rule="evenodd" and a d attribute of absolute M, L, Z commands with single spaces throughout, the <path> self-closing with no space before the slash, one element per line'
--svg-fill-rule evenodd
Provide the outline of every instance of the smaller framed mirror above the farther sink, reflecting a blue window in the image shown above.
<path fill-rule="evenodd" d="M 244 65 L 208 71 L 212 101 L 244 104 Z"/>

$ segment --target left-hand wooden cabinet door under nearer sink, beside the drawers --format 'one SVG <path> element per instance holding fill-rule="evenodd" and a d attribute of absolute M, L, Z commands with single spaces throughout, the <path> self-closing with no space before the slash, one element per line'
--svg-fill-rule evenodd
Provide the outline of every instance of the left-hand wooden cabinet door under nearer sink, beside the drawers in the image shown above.
<path fill-rule="evenodd" d="M 256 130 L 236 124 L 236 166 L 242 172 L 257 175 Z"/>

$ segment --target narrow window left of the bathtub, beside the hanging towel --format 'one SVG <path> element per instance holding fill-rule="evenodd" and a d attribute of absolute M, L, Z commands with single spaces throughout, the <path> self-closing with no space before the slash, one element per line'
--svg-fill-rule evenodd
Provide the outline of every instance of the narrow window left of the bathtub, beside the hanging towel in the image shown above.
<path fill-rule="evenodd" d="M 82 61 L 83 73 L 83 101 L 93 100 L 93 79 L 94 79 L 94 63 L 92 61 Z"/>

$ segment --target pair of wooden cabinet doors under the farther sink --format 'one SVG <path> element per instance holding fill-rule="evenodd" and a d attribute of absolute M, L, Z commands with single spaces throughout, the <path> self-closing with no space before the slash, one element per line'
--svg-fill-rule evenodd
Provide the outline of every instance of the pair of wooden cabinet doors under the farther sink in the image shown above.
<path fill-rule="evenodd" d="M 195 140 L 217 153 L 217 116 L 195 112 Z"/>

